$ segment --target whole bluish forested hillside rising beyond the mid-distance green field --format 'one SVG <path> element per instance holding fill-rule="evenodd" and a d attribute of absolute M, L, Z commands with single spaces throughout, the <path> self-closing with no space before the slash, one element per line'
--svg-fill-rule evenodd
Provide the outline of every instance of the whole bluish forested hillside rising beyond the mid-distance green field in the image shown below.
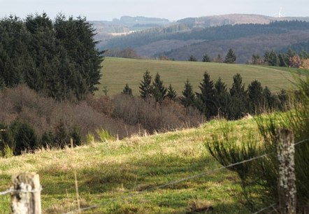
<path fill-rule="evenodd" d="M 282 50 L 294 43 L 308 41 L 308 29 L 309 22 L 303 21 L 229 24 L 206 28 L 192 28 L 192 24 L 180 22 L 171 27 L 119 36 L 108 41 L 102 48 L 130 47 L 141 56 L 166 56 L 179 60 L 186 60 L 190 55 L 201 60 L 205 53 L 215 57 L 224 55 L 229 48 L 233 48 L 242 50 L 240 53 L 236 51 L 236 54 L 242 55 L 237 62 L 245 63 L 254 53 L 262 55 L 265 50 Z"/>

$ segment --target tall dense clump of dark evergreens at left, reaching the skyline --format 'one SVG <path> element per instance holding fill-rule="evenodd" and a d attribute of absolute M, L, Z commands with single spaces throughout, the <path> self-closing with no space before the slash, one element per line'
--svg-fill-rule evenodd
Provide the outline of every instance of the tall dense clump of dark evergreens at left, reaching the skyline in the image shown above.
<path fill-rule="evenodd" d="M 26 84 L 57 100 L 80 101 L 101 78 L 101 52 L 85 17 L 46 13 L 0 20 L 0 87 Z"/>

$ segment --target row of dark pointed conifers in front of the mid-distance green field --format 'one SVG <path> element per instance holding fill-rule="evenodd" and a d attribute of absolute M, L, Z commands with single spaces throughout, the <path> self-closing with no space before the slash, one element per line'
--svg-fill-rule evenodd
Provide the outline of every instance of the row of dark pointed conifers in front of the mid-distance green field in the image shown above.
<path fill-rule="evenodd" d="M 164 86 L 159 73 L 152 81 L 150 71 L 145 71 L 139 89 L 143 99 L 152 98 L 158 103 L 164 99 L 178 101 L 187 110 L 198 109 L 208 120 L 218 115 L 229 120 L 238 120 L 247 113 L 259 114 L 271 110 L 285 110 L 285 104 L 289 99 L 285 90 L 274 94 L 267 86 L 262 87 L 258 80 L 252 80 L 245 88 L 239 73 L 233 76 L 233 85 L 228 89 L 221 78 L 214 82 L 205 71 L 203 81 L 199 84 L 200 92 L 194 92 L 191 83 L 187 80 L 182 95 L 178 97 L 172 85 Z M 122 94 L 132 96 L 132 90 L 128 84 L 124 87 Z"/>

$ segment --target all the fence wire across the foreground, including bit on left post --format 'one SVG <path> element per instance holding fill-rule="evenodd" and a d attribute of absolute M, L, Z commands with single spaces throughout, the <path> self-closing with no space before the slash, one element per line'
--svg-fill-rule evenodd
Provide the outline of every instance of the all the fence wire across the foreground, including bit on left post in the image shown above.
<path fill-rule="evenodd" d="M 309 142 L 309 138 L 303 140 L 303 141 L 299 141 L 297 143 L 294 143 L 294 146 L 296 145 L 300 145 L 301 143 L 306 143 L 306 142 Z M 168 186 L 171 186 L 171 185 L 175 185 L 175 184 L 178 184 L 178 183 L 182 183 L 184 181 L 187 181 L 187 180 L 192 180 L 194 178 L 200 178 L 200 177 L 203 177 L 203 176 L 206 176 L 210 173 L 215 173 L 217 171 L 221 171 L 223 169 L 229 169 L 233 166 L 237 166 L 237 165 L 240 165 L 240 164 L 244 164 L 244 163 L 247 163 L 247 162 L 252 162 L 256 159 L 261 159 L 263 157 L 267 157 L 268 155 L 273 155 L 275 154 L 275 152 L 270 152 L 270 153 L 267 153 L 267 154 L 264 154 L 264 155 L 260 155 L 260 156 L 257 156 L 257 157 L 252 157 L 250 159 L 245 159 L 241 162 L 237 162 L 237 163 L 233 163 L 233 164 L 229 164 L 227 166 L 222 166 L 220 168 L 217 168 L 217 169 L 212 169 L 212 170 L 208 170 L 208 171 L 204 171 L 203 173 L 198 173 L 194 176 L 187 176 L 185 178 L 182 178 L 182 179 L 178 179 L 178 180 L 173 180 L 173 181 L 170 181 L 168 183 L 165 183 L 165 184 L 161 184 L 161 185 L 157 185 L 155 187 L 150 187 L 150 188 L 147 188 L 145 190 L 141 190 L 139 192 L 132 192 L 130 194 L 127 194 L 127 195 L 124 195 L 122 197 L 118 197 L 118 198 L 114 198 L 114 199 L 110 199 L 108 201 L 104 201 L 103 203 L 100 203 L 100 204 L 94 204 L 92 206 L 87 206 L 85 208 L 78 208 L 74 211 L 70 211 L 69 213 L 65 213 L 65 214 L 73 214 L 73 213 L 79 213 L 80 211 L 87 211 L 87 210 L 90 210 L 90 209 L 94 209 L 94 208 L 99 208 L 101 206 L 105 206 L 106 204 L 110 204 L 112 202 L 115 202 L 115 201 L 118 201 L 118 200 L 122 200 L 122 199 L 127 199 L 127 198 L 130 198 L 130 197 L 134 197 L 138 194 L 143 194 L 144 192 L 151 192 L 153 190 L 158 190 L 158 189 L 161 189 L 161 188 L 164 188 L 164 187 L 168 187 Z M 25 190 L 14 190 L 12 187 L 9 189 L 9 190 L 6 190 L 6 191 L 3 191 L 3 192 L 0 192 L 0 195 L 5 195 L 5 194 L 12 194 L 12 193 L 34 193 L 34 192 L 41 192 L 43 190 L 42 187 L 40 187 L 39 190 L 29 190 L 29 191 L 25 191 Z M 261 213 L 263 211 L 266 211 L 267 209 L 269 208 L 274 208 L 276 204 L 271 204 L 270 206 L 267 206 L 265 208 L 262 208 L 261 210 L 257 211 L 256 213 L 254 214 L 257 214 L 257 213 Z"/>

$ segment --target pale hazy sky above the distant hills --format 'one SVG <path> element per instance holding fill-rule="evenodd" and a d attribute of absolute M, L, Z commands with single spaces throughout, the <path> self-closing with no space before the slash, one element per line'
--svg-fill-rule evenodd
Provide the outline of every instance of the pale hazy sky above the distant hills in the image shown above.
<path fill-rule="evenodd" d="M 78 15 L 87 20 L 112 20 L 122 15 L 164 17 L 171 21 L 183 17 L 229 13 L 278 16 L 309 16 L 308 0 L 0 0 L 0 17 L 10 14 L 26 17 L 29 13 Z"/>

